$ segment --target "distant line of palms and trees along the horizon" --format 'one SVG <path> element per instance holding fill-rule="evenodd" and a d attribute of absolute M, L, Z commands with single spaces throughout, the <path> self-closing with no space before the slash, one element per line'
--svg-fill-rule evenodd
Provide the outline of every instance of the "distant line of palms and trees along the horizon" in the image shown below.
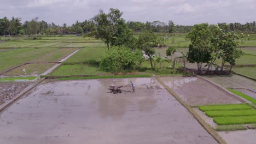
<path fill-rule="evenodd" d="M 20 17 L 3 17 L 0 19 L 0 35 L 36 35 L 36 34 L 86 34 L 95 31 L 94 18 L 85 20 L 83 22 L 75 21 L 71 26 L 67 26 L 63 23 L 62 26 L 56 25 L 51 22 L 48 23 L 43 20 L 39 20 L 39 17 L 35 17 L 30 21 L 21 23 Z M 193 29 L 193 26 L 175 25 L 172 20 L 168 23 L 161 21 L 153 22 L 139 22 L 139 21 L 127 21 L 126 25 L 132 29 L 133 32 L 153 31 L 157 33 L 188 33 Z M 214 28 L 215 25 L 210 25 L 210 28 Z M 241 24 L 235 23 L 218 23 L 219 27 L 222 27 L 224 31 L 240 31 L 245 33 L 256 33 L 256 22 L 246 22 Z"/>

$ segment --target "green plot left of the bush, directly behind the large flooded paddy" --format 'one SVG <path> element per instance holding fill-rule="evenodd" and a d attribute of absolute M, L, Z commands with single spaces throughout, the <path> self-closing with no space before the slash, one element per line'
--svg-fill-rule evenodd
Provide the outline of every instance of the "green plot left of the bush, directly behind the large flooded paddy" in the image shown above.
<path fill-rule="evenodd" d="M 51 76 L 72 76 L 72 75 L 102 75 L 106 74 L 99 70 L 96 66 L 85 64 L 61 65 L 60 68 L 54 70 Z"/>

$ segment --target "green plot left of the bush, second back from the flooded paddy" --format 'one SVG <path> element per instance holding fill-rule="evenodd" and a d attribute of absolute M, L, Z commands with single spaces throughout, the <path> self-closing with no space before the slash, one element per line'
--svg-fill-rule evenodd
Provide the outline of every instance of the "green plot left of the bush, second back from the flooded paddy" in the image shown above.
<path fill-rule="evenodd" d="M 97 63 L 106 52 L 106 47 L 84 47 L 68 58 L 67 63 Z"/>

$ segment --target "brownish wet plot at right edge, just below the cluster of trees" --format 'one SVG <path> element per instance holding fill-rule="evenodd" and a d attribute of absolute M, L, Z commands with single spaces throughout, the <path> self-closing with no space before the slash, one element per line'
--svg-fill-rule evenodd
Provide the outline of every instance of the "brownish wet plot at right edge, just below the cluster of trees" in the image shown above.
<path fill-rule="evenodd" d="M 206 79 L 225 88 L 233 88 L 256 99 L 256 82 L 240 75 L 212 75 Z"/>

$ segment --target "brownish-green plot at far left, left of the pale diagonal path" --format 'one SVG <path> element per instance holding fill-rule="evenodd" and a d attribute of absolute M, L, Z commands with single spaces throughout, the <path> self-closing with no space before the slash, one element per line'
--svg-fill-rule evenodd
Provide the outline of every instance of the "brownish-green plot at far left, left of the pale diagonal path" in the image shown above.
<path fill-rule="evenodd" d="M 19 68 L 13 69 L 4 73 L 5 76 L 19 76 L 19 75 L 39 75 L 43 74 L 44 71 L 53 67 L 55 63 L 32 63 L 32 64 L 25 64 Z M 25 71 L 26 73 L 25 73 Z"/>

